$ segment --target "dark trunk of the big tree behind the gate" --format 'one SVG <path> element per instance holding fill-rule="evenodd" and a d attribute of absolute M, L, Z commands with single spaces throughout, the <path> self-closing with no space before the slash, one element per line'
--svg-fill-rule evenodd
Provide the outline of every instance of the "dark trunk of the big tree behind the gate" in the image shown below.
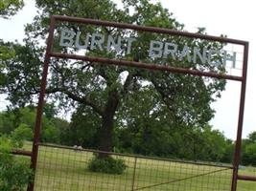
<path fill-rule="evenodd" d="M 114 116 L 119 103 L 117 90 L 111 90 L 108 93 L 108 99 L 105 104 L 102 127 L 99 131 L 99 149 L 101 151 L 111 152 L 113 148 L 113 127 Z M 107 157 L 108 154 L 100 154 L 100 158 Z"/>

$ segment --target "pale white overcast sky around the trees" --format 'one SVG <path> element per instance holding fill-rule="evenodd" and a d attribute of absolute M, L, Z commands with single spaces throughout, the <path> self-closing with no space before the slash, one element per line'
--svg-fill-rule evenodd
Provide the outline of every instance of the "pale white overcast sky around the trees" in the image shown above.
<path fill-rule="evenodd" d="M 196 32 L 198 27 L 206 28 L 210 35 L 226 34 L 230 38 L 249 41 L 249 61 L 246 88 L 246 100 L 244 111 L 244 134 L 245 138 L 250 132 L 256 131 L 256 59 L 252 53 L 256 53 L 256 27 L 254 1 L 241 0 L 152 0 L 162 2 L 162 5 L 174 13 L 175 18 L 185 24 L 189 32 Z M 6 41 L 17 39 L 22 42 L 24 37 L 24 24 L 30 23 L 35 16 L 35 4 L 33 0 L 25 0 L 26 6 L 11 20 L 0 18 L 0 38 Z M 211 121 L 214 128 L 220 129 L 227 138 L 236 138 L 238 108 L 240 97 L 240 82 L 228 82 L 226 91 L 217 103 L 213 104 L 216 109 L 216 117 Z M 3 96 L 0 96 L 0 109 L 5 108 Z"/>

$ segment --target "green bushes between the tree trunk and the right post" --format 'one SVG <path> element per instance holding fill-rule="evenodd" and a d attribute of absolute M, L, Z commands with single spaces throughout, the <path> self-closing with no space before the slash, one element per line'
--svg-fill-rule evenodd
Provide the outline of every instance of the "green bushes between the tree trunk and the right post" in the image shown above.
<path fill-rule="evenodd" d="M 165 120 L 147 120 L 119 131 L 123 152 L 175 159 L 231 162 L 232 142 L 210 126 L 170 127 Z M 229 146 L 230 145 L 230 146 Z"/>

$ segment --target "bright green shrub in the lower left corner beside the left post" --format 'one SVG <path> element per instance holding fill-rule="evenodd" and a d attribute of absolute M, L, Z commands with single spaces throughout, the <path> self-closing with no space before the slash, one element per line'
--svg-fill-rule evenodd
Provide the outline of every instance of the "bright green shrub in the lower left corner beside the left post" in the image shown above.
<path fill-rule="evenodd" d="M 20 140 L 19 140 L 20 141 Z M 11 152 L 20 142 L 15 138 L 0 137 L 0 190 L 22 191 L 30 182 L 33 171 L 30 160 L 14 157 Z"/>

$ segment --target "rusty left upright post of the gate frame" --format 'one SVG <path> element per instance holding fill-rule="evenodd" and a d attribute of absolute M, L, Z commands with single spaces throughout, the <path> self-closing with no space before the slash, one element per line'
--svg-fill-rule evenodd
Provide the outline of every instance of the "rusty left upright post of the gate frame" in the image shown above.
<path fill-rule="evenodd" d="M 55 18 L 51 17 L 50 23 L 50 30 L 49 30 L 49 37 L 47 40 L 47 47 L 43 65 L 43 73 L 41 78 L 41 86 L 40 86 L 40 93 L 38 98 L 38 105 L 37 105 L 37 112 L 35 118 L 35 130 L 34 130 L 34 140 L 33 140 L 33 149 L 32 149 L 32 158 L 31 158 L 31 167 L 35 170 L 36 163 L 37 163 L 37 155 L 38 155 L 38 142 L 40 139 L 40 129 L 41 129 L 41 118 L 43 113 L 43 102 L 45 96 L 45 89 L 47 84 L 47 74 L 49 68 L 49 62 L 51 58 L 51 50 L 54 41 L 54 31 L 55 31 Z M 34 191 L 35 180 L 31 182 L 28 186 L 28 191 Z"/>

